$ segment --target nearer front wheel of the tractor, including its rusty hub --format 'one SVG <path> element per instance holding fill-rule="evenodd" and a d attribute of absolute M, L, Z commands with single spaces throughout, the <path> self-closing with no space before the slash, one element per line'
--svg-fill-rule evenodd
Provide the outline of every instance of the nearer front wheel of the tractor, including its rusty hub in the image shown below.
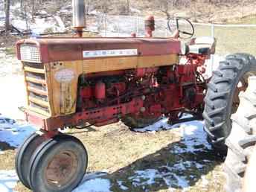
<path fill-rule="evenodd" d="M 29 181 L 33 191 L 72 191 L 86 173 L 88 156 L 81 141 L 57 135 L 42 143 L 31 157 Z"/>

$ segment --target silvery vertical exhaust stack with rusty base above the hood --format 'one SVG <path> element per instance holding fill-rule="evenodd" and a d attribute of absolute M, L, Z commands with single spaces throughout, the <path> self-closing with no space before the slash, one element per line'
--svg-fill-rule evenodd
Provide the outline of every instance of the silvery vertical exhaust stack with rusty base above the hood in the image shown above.
<path fill-rule="evenodd" d="M 77 35 L 83 36 L 83 28 L 85 24 L 85 3 L 84 0 L 72 0 L 73 7 L 73 28 L 77 31 Z"/>

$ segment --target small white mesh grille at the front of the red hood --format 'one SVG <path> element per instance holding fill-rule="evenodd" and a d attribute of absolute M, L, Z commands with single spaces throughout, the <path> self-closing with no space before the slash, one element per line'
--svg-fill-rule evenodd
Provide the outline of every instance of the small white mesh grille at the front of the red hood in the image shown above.
<path fill-rule="evenodd" d="M 40 51 L 36 45 L 23 44 L 20 47 L 20 56 L 22 61 L 31 63 L 41 63 Z"/>

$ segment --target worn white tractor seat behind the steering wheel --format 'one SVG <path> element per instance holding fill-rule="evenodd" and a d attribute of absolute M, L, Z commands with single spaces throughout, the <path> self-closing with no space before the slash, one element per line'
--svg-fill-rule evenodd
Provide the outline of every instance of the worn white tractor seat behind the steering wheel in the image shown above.
<path fill-rule="evenodd" d="M 211 36 L 200 36 L 191 39 L 188 43 L 188 53 L 191 54 L 214 54 L 216 39 Z"/>

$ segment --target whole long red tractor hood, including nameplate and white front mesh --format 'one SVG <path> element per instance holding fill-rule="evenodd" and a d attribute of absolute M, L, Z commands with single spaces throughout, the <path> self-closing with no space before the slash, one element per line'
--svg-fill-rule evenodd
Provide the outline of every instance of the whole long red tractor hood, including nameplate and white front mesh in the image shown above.
<path fill-rule="evenodd" d="M 38 38 L 19 40 L 16 53 L 19 60 L 50 63 L 97 57 L 181 54 L 180 44 L 179 40 L 167 38 Z"/>

